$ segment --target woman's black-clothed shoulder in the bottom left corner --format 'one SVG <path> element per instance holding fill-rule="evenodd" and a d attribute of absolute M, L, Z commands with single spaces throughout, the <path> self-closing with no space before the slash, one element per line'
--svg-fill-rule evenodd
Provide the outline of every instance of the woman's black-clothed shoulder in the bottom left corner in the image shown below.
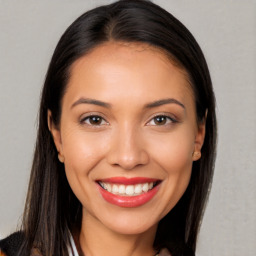
<path fill-rule="evenodd" d="M 24 233 L 15 232 L 0 240 L 0 256 L 16 256 L 24 240 Z"/>

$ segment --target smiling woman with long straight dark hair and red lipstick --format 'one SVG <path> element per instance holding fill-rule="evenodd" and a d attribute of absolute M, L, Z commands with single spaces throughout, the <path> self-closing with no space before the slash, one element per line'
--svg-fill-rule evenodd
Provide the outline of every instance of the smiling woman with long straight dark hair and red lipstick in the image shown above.
<path fill-rule="evenodd" d="M 215 146 L 191 33 L 148 1 L 86 12 L 49 65 L 23 227 L 2 253 L 194 255 Z"/>

